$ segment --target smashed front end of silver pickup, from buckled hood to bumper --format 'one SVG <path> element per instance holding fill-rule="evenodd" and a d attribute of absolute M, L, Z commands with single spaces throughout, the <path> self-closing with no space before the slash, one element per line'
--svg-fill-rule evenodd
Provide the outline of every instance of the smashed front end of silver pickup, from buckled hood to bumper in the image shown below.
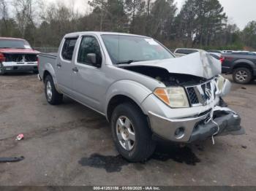
<path fill-rule="evenodd" d="M 184 67 L 183 62 L 189 61 L 188 58 L 194 58 L 190 62 L 197 63 L 195 69 Z M 205 53 L 196 53 L 187 58 L 173 58 L 173 65 L 164 61 L 122 66 L 165 85 L 156 88 L 141 104 L 148 111 L 154 135 L 169 141 L 189 143 L 245 133 L 241 128 L 241 117 L 227 108 L 222 100 L 222 96 L 230 92 L 231 83 L 219 75 L 221 65 L 212 59 Z"/>

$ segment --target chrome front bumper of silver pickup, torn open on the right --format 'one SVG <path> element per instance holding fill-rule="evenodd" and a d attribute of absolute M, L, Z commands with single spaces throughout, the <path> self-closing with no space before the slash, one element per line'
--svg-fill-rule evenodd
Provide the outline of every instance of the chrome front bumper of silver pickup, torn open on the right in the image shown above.
<path fill-rule="evenodd" d="M 208 111 L 198 117 L 169 119 L 148 112 L 148 117 L 153 133 L 168 141 L 189 143 L 215 135 L 244 134 L 241 117 L 236 112 L 226 107 L 215 106 L 213 120 L 209 120 L 210 113 L 211 111 Z"/>

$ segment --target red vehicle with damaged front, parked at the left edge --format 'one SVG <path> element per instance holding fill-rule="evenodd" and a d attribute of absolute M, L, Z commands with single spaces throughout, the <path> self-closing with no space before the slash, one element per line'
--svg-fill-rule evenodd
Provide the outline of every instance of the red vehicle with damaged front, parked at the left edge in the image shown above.
<path fill-rule="evenodd" d="M 0 74 L 15 71 L 37 73 L 38 54 L 25 39 L 0 37 Z"/>

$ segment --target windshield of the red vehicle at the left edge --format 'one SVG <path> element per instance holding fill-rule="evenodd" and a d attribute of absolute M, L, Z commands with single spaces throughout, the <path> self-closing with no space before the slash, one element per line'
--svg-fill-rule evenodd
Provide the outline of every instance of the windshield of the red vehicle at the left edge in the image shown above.
<path fill-rule="evenodd" d="M 0 39 L 0 48 L 31 49 L 31 46 L 25 40 Z"/>

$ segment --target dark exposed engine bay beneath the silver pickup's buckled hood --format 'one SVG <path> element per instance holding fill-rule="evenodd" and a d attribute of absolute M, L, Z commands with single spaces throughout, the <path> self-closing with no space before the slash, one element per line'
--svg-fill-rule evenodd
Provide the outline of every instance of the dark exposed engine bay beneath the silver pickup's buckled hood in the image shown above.
<path fill-rule="evenodd" d="M 197 85 L 207 81 L 207 79 L 203 77 L 195 77 L 189 74 L 169 73 L 167 69 L 159 68 L 157 66 L 121 66 L 121 68 L 157 79 L 167 87 L 178 85 Z"/>

